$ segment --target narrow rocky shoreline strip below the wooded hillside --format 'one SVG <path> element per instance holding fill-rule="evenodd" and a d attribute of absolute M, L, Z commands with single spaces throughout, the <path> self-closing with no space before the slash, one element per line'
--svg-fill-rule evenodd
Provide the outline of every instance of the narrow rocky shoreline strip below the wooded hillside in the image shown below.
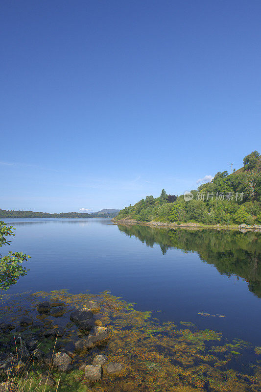
<path fill-rule="evenodd" d="M 142 222 L 136 221 L 135 219 L 121 219 L 117 221 L 115 218 L 112 218 L 113 223 L 115 224 L 141 224 L 143 226 L 154 226 L 154 227 L 164 227 L 164 228 L 187 228 L 187 229 L 216 229 L 216 230 L 240 230 L 242 232 L 245 231 L 261 231 L 261 225 L 251 225 L 248 226 L 245 223 L 240 225 L 221 225 L 221 224 L 203 224 L 196 222 L 187 222 L 187 223 L 167 223 L 167 222 Z M 244 230 L 244 231 L 243 231 Z"/>

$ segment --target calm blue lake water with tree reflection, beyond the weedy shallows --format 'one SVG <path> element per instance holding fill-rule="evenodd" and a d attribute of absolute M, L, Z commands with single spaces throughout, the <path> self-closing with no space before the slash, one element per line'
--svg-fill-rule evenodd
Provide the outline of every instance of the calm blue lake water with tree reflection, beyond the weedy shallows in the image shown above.
<path fill-rule="evenodd" d="M 261 345 L 258 233 L 118 226 L 106 219 L 5 219 L 16 230 L 1 248 L 31 255 L 10 293 L 67 289 L 113 295 L 164 321 L 191 321 Z M 219 317 L 202 317 L 198 312 Z"/>

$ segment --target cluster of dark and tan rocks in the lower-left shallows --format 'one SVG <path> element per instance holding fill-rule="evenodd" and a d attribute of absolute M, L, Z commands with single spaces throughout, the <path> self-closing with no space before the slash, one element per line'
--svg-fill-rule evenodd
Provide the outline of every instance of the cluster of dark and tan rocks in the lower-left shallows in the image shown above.
<path fill-rule="evenodd" d="M 109 362 L 103 353 L 112 331 L 99 319 L 99 310 L 100 304 L 91 300 L 69 313 L 65 303 L 45 301 L 38 303 L 36 319 L 22 317 L 16 325 L 0 322 L 1 375 L 11 380 L 33 363 L 40 383 L 51 388 L 55 385 L 53 371 L 79 369 L 90 382 L 99 381 L 103 373 L 119 374 L 124 365 Z M 15 391 L 10 382 L 0 383 L 0 392 Z"/>

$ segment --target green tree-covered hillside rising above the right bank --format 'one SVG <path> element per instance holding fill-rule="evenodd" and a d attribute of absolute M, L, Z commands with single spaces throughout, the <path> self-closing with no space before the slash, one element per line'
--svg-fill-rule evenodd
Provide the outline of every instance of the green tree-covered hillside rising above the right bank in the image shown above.
<path fill-rule="evenodd" d="M 261 156 L 252 151 L 237 172 L 217 172 L 214 179 L 184 195 L 146 196 L 120 210 L 116 220 L 200 222 L 204 224 L 261 223 Z"/>

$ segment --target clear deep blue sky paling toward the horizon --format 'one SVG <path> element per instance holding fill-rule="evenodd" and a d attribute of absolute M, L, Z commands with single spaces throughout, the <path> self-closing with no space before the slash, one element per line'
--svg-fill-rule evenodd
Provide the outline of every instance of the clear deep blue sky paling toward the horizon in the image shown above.
<path fill-rule="evenodd" d="M 261 152 L 259 0 L 0 9 L 0 208 L 122 208 Z"/>

